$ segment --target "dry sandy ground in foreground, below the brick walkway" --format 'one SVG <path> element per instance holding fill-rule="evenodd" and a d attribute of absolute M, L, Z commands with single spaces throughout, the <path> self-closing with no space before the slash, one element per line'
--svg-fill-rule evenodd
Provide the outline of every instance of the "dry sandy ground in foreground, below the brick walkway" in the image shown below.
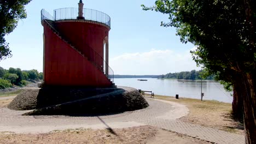
<path fill-rule="evenodd" d="M 204 144 L 198 140 L 167 130 L 144 125 L 125 129 L 67 129 L 46 134 L 0 134 L 0 143 L 180 143 Z"/>

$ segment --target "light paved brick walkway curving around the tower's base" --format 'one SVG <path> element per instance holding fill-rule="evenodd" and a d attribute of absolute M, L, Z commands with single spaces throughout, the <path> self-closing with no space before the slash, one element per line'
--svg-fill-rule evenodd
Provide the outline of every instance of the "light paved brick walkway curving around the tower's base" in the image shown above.
<path fill-rule="evenodd" d="M 187 108 L 184 105 L 152 99 L 147 101 L 150 106 L 146 109 L 106 116 L 21 116 L 25 111 L 2 108 L 0 109 L 0 131 L 39 133 L 45 132 L 45 129 L 52 131 L 65 128 L 112 126 L 112 128 L 123 128 L 149 124 L 213 143 L 244 143 L 243 135 L 178 121 L 177 118 L 187 114 Z"/>

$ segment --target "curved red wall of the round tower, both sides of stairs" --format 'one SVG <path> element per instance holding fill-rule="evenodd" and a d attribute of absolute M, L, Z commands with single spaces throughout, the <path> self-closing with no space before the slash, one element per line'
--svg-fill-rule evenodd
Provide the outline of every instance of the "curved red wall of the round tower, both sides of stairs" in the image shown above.
<path fill-rule="evenodd" d="M 90 23 L 90 28 L 85 28 L 87 26 L 81 22 L 63 23 L 65 24 L 60 26 L 61 32 L 67 34 L 75 46 L 82 49 L 84 47 L 83 44 L 88 43 L 90 46 L 95 47 L 96 51 L 102 55 L 103 38 L 108 34 L 106 27 L 93 26 L 95 24 Z M 84 28 L 82 28 L 82 31 L 79 31 L 79 27 Z M 91 33 L 92 30 L 89 29 L 94 29 L 95 33 Z M 101 70 L 75 51 L 69 44 L 65 43 L 45 24 L 44 34 L 45 85 L 93 87 L 108 87 L 112 85 Z"/>

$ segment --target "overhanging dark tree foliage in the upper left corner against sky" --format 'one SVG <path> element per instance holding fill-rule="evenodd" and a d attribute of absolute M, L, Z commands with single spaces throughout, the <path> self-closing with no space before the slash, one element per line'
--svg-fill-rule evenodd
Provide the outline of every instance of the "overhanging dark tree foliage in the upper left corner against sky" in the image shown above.
<path fill-rule="evenodd" d="M 9 44 L 4 36 L 13 32 L 18 21 L 27 17 L 25 5 L 31 0 L 0 1 L 0 61 L 11 56 Z"/>

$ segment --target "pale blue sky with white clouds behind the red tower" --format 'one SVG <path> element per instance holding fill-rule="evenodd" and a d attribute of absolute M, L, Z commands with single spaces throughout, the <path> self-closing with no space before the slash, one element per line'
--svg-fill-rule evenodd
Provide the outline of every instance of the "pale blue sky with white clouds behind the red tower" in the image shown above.
<path fill-rule="evenodd" d="M 27 19 L 6 40 L 13 57 L 0 62 L 0 67 L 22 70 L 43 70 L 43 27 L 40 10 L 53 15 L 58 8 L 77 8 L 78 0 L 32 0 L 26 5 Z M 168 15 L 143 11 L 141 4 L 153 5 L 149 0 L 94 0 L 83 1 L 84 8 L 96 9 L 111 17 L 109 32 L 109 65 L 115 74 L 146 75 L 166 74 L 200 69 L 189 51 L 193 44 L 182 44 L 175 28 L 160 27 L 168 22 Z"/>

